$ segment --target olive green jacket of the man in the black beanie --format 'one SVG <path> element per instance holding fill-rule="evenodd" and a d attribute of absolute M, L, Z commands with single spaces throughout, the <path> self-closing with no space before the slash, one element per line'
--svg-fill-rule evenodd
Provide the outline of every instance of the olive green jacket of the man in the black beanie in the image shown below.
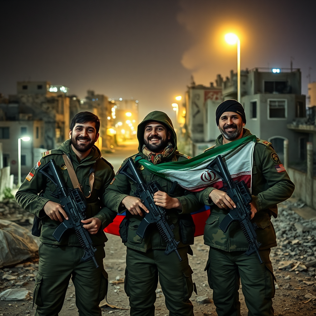
<path fill-rule="evenodd" d="M 243 137 L 249 135 L 251 135 L 250 131 L 244 129 Z M 222 135 L 217 137 L 215 147 L 221 146 L 222 140 Z M 260 249 L 276 246 L 276 235 L 270 218 L 272 215 L 277 217 L 276 204 L 289 198 L 295 188 L 286 171 L 277 172 L 276 166 L 279 164 L 281 162 L 278 161 L 271 143 L 257 138 L 253 152 L 251 188 L 252 203 L 257 209 L 252 222 L 258 225 L 256 233 L 261 243 Z M 201 203 L 211 205 L 211 214 L 204 229 L 204 243 L 225 251 L 247 250 L 249 244 L 238 222 L 232 222 L 226 233 L 219 228 L 219 224 L 229 210 L 220 209 L 209 199 L 209 193 L 213 189 L 210 187 L 197 194 Z"/>

